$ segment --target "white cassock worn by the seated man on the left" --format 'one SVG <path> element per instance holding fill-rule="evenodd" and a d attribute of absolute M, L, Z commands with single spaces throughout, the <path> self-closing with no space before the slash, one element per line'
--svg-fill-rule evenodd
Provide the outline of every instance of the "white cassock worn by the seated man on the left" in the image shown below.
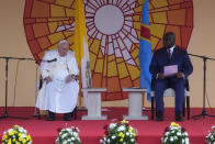
<path fill-rule="evenodd" d="M 45 63 L 57 58 L 56 62 Z M 44 81 L 38 92 L 36 108 L 39 110 L 49 110 L 56 113 L 68 113 L 73 111 L 77 106 L 79 84 L 76 80 L 66 84 L 69 75 L 78 75 L 79 69 L 76 62 L 75 53 L 68 51 L 65 57 L 60 57 L 58 49 L 45 53 L 41 64 L 41 75 L 43 78 L 50 77 L 53 81 Z"/>

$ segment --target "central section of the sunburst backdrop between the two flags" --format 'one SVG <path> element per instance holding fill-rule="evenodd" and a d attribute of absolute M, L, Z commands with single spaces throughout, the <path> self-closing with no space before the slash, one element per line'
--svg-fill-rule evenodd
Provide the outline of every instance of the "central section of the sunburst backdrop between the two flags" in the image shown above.
<path fill-rule="evenodd" d="M 142 5 L 136 0 L 86 2 L 93 86 L 106 99 L 122 99 L 122 88 L 138 86 L 138 35 Z"/>

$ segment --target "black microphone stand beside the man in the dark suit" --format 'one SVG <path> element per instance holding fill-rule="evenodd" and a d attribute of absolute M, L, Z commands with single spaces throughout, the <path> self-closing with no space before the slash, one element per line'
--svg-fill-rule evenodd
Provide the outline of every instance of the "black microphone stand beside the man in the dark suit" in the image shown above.
<path fill-rule="evenodd" d="M 207 59 L 210 60 L 215 60 L 215 58 L 211 58 L 211 57 L 206 57 L 206 56 L 201 56 L 201 55 L 194 55 L 194 54 L 189 54 L 191 56 L 194 56 L 194 57 L 199 57 L 199 58 L 202 58 L 203 59 L 203 108 L 202 108 L 202 113 L 201 114 L 197 114 L 197 115 L 193 115 L 192 119 L 196 119 L 197 118 L 205 118 L 205 117 L 213 117 L 215 118 L 215 115 L 212 115 L 212 114 L 207 114 L 206 110 L 205 110 L 205 98 L 206 98 L 206 62 Z"/>

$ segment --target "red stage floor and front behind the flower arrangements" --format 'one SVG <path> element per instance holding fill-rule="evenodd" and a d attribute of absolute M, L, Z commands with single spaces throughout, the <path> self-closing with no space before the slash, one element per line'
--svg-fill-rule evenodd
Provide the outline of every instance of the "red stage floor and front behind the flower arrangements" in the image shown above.
<path fill-rule="evenodd" d="M 103 136 L 103 126 L 110 122 L 122 120 L 124 114 L 127 114 L 126 108 L 106 108 L 109 111 L 103 113 L 109 117 L 105 121 L 81 121 L 81 117 L 87 114 L 87 111 L 78 111 L 78 120 L 71 122 L 63 121 L 61 114 L 57 115 L 56 121 L 47 122 L 45 117 L 41 120 L 33 118 L 34 108 L 9 108 L 9 117 L 26 117 L 29 120 L 19 120 L 13 118 L 0 119 L 0 137 L 4 131 L 12 128 L 14 124 L 21 125 L 29 131 L 33 137 L 34 144 L 55 144 L 57 137 L 57 129 L 66 126 L 78 126 L 80 129 L 80 139 L 82 144 L 99 144 Z M 0 114 L 3 114 L 3 108 L 0 108 Z M 138 131 L 138 144 L 160 144 L 165 128 L 174 121 L 174 109 L 166 109 L 165 121 L 129 121 L 129 124 Z M 207 109 L 207 112 L 215 114 L 215 109 Z M 150 118 L 150 111 L 144 111 Z M 202 109 L 191 109 L 191 115 L 202 113 Z M 191 144 L 205 144 L 205 136 L 215 125 L 215 118 L 201 118 L 200 120 L 186 120 L 180 122 L 189 132 Z"/>

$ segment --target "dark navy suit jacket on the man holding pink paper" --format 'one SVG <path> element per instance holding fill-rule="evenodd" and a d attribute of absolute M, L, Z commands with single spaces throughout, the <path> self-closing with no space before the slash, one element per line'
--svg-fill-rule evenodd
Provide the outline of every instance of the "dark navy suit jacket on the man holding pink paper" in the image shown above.
<path fill-rule="evenodd" d="M 178 70 L 183 73 L 185 78 L 193 71 L 193 66 L 186 51 L 174 47 L 174 51 L 169 60 L 167 48 L 160 48 L 154 53 L 150 64 L 150 73 L 154 78 L 158 73 L 163 73 L 163 67 L 169 65 L 178 65 Z"/>

